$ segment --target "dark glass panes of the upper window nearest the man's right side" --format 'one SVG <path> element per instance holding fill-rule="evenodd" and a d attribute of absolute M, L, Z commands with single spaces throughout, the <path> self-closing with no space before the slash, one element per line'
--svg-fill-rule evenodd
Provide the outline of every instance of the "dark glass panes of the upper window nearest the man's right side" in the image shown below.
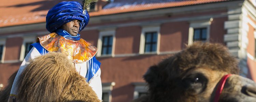
<path fill-rule="evenodd" d="M 102 37 L 101 55 L 112 53 L 113 36 Z"/>

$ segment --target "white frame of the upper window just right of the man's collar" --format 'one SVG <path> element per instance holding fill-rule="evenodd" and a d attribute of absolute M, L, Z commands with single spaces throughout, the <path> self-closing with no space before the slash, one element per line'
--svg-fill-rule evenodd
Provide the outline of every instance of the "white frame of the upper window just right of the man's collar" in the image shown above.
<path fill-rule="evenodd" d="M 98 52 L 97 52 L 97 56 L 112 56 L 114 57 L 114 53 L 115 53 L 115 40 L 116 40 L 116 37 L 115 37 L 115 29 L 107 29 L 107 30 L 100 30 L 100 33 L 99 33 L 99 38 L 98 38 L 98 45 L 97 45 L 97 48 L 98 48 Z M 112 44 L 112 53 L 111 54 L 107 54 L 107 55 L 101 55 L 101 48 L 102 48 L 102 37 L 103 36 L 113 36 L 113 44 Z"/>

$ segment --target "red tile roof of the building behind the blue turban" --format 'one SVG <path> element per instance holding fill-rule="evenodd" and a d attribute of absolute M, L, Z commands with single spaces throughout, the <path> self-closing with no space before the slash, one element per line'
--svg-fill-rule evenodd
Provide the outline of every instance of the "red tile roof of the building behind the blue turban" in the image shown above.
<path fill-rule="evenodd" d="M 45 16 L 48 10 L 60 1 L 61 0 L 1 0 L 0 27 L 45 22 Z M 90 12 L 89 14 L 92 17 L 221 1 L 230 0 L 174 0 L 174 2 L 141 3 L 103 8 L 101 11 Z M 117 0 L 117 2 L 122 2 L 122 0 Z"/>

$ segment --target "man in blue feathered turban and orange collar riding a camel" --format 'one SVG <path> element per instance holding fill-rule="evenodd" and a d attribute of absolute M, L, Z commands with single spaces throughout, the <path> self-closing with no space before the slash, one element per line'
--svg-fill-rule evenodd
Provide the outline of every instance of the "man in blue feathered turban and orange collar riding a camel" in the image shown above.
<path fill-rule="evenodd" d="M 87 10 L 75 1 L 64 1 L 55 5 L 46 16 L 46 29 L 51 33 L 37 38 L 37 43 L 31 44 L 30 52 L 25 57 L 12 86 L 9 102 L 15 101 L 16 83 L 19 75 L 30 63 L 29 60 L 48 52 L 61 52 L 73 61 L 76 71 L 85 77 L 89 85 L 102 97 L 100 79 L 100 62 L 96 60 L 97 48 L 78 34 L 89 22 Z"/>

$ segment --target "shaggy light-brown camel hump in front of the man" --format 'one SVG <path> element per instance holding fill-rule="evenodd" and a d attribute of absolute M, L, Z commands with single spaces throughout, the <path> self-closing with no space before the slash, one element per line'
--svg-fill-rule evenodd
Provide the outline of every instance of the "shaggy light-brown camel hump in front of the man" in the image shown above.
<path fill-rule="evenodd" d="M 19 79 L 18 102 L 100 102 L 62 53 L 50 52 L 34 58 Z"/>

